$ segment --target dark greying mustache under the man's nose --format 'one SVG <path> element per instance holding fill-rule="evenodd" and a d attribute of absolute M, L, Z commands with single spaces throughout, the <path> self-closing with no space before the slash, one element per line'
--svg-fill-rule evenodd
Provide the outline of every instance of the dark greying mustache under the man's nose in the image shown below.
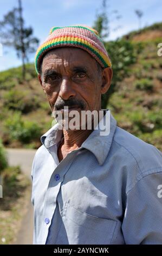
<path fill-rule="evenodd" d="M 57 111 L 64 107 L 74 107 L 74 106 L 81 108 L 81 110 L 86 109 L 85 102 L 83 102 L 82 100 L 77 100 L 72 98 L 68 100 L 62 100 L 62 99 L 58 100 L 54 104 L 54 110 Z"/>

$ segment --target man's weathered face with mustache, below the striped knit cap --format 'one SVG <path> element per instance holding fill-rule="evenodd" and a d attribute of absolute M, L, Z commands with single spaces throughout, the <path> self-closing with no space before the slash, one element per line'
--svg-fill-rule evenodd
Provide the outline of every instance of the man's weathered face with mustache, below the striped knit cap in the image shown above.
<path fill-rule="evenodd" d="M 100 110 L 101 94 L 110 86 L 112 70 L 99 72 L 96 61 L 80 48 L 63 47 L 49 51 L 38 76 L 52 110 L 64 106 L 76 110 Z"/>

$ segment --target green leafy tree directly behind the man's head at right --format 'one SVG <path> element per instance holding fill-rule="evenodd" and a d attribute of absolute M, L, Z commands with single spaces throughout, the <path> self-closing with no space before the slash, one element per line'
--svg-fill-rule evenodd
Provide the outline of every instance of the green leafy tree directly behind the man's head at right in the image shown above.
<path fill-rule="evenodd" d="M 99 32 L 102 40 L 104 35 L 109 35 L 111 31 L 111 22 L 113 21 L 111 14 L 118 14 L 117 10 L 111 13 L 107 12 L 106 0 L 102 2 L 102 11 L 100 15 L 96 17 L 94 22 L 94 28 Z M 107 18 L 109 17 L 109 19 Z M 119 20 L 120 15 L 114 17 L 114 19 Z M 116 29 L 115 29 L 116 30 Z M 107 90 L 105 94 L 101 96 L 101 108 L 108 107 L 108 101 L 111 95 L 116 91 L 119 83 L 129 75 L 129 67 L 136 62 L 138 46 L 134 47 L 132 42 L 125 39 L 117 39 L 115 41 L 103 40 L 106 51 L 112 61 L 113 68 L 113 79 L 111 82 L 111 87 Z"/>

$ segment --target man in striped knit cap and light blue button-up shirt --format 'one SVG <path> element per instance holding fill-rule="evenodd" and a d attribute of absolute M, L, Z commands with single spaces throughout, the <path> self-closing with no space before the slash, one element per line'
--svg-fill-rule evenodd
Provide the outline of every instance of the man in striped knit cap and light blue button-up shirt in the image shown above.
<path fill-rule="evenodd" d="M 38 79 L 52 111 L 104 112 L 111 61 L 94 29 L 54 27 L 38 48 Z M 92 123 L 95 119 L 92 119 Z M 36 244 L 162 243 L 162 154 L 116 126 L 65 129 L 41 137 L 33 162 Z M 88 122 L 87 122 L 88 124 Z M 87 126 L 86 126 L 87 127 Z M 95 129 L 98 127 L 98 129 Z"/>

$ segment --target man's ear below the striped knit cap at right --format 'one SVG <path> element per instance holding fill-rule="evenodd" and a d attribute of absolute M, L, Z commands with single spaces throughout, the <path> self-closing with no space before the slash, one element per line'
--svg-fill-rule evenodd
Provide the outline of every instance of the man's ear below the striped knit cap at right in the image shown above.
<path fill-rule="evenodd" d="M 105 94 L 111 85 L 113 77 L 112 68 L 105 68 L 102 72 L 102 85 L 101 85 L 101 94 Z"/>

